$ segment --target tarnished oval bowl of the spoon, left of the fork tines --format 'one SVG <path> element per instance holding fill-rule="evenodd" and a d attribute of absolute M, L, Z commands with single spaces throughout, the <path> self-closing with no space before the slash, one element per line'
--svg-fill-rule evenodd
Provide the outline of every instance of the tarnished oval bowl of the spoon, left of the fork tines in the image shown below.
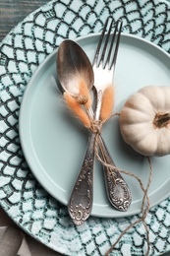
<path fill-rule="evenodd" d="M 93 86 L 94 75 L 89 59 L 84 49 L 73 40 L 66 39 L 59 46 L 57 73 L 62 88 L 72 96 L 79 94 L 81 81 L 89 91 Z"/>

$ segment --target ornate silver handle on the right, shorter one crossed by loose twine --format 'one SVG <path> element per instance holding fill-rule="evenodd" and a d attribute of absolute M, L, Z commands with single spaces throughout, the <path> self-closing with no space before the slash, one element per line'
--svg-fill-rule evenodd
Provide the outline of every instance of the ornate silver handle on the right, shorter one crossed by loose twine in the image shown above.
<path fill-rule="evenodd" d="M 115 166 L 114 161 L 109 155 L 109 152 L 99 136 L 99 146 L 103 159 L 112 166 Z M 104 166 L 104 178 L 108 199 L 110 203 L 119 211 L 127 211 L 132 202 L 131 191 L 118 170 Z"/>

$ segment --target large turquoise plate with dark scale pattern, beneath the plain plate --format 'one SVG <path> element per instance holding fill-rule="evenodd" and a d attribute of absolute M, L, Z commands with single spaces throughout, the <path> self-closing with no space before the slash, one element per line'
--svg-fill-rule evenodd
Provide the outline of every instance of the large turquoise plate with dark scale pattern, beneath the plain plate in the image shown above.
<path fill-rule="evenodd" d="M 30 14 L 0 44 L 0 204 L 34 238 L 66 255 L 104 255 L 127 225 L 123 219 L 90 217 L 72 224 L 67 208 L 54 200 L 28 168 L 19 139 L 19 111 L 28 81 L 64 38 L 100 32 L 106 17 L 121 18 L 123 31 L 170 52 L 170 4 L 163 0 L 58 0 Z M 170 250 L 170 198 L 146 217 L 150 255 Z M 144 255 L 145 229 L 131 228 L 112 255 Z"/>

